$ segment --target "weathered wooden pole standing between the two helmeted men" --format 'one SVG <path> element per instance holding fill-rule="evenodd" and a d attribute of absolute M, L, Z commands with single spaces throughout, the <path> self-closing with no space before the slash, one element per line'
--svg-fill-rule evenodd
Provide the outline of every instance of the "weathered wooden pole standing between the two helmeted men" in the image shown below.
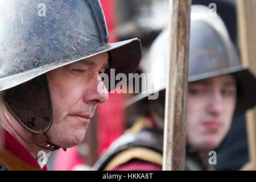
<path fill-rule="evenodd" d="M 191 0 L 170 0 L 163 170 L 184 170 Z"/>

